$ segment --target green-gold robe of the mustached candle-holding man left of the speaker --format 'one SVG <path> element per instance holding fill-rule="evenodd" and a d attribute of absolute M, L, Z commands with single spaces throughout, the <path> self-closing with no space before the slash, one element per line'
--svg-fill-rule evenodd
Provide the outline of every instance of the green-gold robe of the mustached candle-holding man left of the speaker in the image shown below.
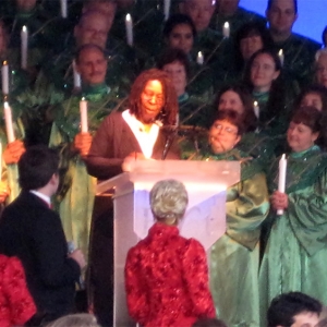
<path fill-rule="evenodd" d="M 52 124 L 49 146 L 61 153 L 61 183 L 56 208 L 60 214 L 68 241 L 73 241 L 88 253 L 90 219 L 96 191 L 96 179 L 87 173 L 86 166 L 77 153 L 72 150 L 72 142 L 80 132 L 80 100 L 88 100 L 88 129 L 94 133 L 102 119 L 119 101 L 113 90 L 105 85 L 88 88 L 81 96 L 73 96 L 58 108 Z"/>

